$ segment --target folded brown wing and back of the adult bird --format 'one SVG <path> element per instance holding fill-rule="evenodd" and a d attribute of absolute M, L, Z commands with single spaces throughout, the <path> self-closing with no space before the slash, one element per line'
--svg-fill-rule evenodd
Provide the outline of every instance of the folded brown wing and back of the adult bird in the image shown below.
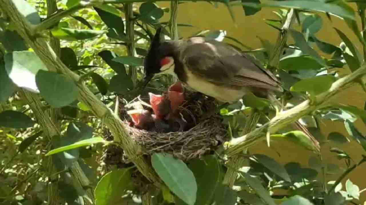
<path fill-rule="evenodd" d="M 180 59 L 209 81 L 282 91 L 277 78 L 253 57 L 216 40 L 190 38 Z"/>

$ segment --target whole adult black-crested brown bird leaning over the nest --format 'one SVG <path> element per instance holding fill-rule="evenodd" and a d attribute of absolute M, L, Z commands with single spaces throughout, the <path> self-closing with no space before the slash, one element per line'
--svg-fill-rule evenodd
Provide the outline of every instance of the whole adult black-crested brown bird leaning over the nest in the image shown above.
<path fill-rule="evenodd" d="M 142 88 L 153 78 L 168 74 L 226 104 L 237 102 L 249 93 L 273 102 L 275 93 L 283 92 L 281 81 L 272 72 L 234 46 L 205 37 L 162 40 L 161 29 L 157 28 L 144 59 Z M 306 129 L 298 121 L 295 123 L 296 128 Z M 305 133 L 320 150 L 318 141 L 307 129 Z"/>

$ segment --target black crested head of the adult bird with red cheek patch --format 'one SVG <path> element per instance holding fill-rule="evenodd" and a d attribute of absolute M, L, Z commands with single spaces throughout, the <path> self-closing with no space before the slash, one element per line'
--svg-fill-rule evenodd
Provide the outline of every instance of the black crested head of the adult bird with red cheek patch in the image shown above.
<path fill-rule="evenodd" d="M 172 46 L 170 43 L 161 40 L 160 33 L 161 27 L 156 30 L 149 53 L 147 53 L 144 60 L 145 78 L 143 79 L 142 88 L 145 88 L 149 81 L 158 75 L 175 75 Z"/>

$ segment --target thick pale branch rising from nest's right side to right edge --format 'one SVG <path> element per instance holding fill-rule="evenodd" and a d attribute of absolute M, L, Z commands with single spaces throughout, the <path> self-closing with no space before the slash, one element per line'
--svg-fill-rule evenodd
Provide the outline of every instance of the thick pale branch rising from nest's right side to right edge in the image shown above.
<path fill-rule="evenodd" d="M 332 84 L 332 86 L 324 93 L 314 96 L 314 100 L 306 100 L 296 105 L 295 107 L 288 109 L 286 111 L 280 112 L 277 116 L 273 117 L 268 123 L 264 124 L 262 127 L 255 129 L 247 135 L 241 136 L 240 138 L 232 139 L 230 142 L 225 144 L 225 154 L 228 156 L 233 156 L 246 148 L 257 144 L 265 138 L 267 131 L 270 133 L 275 133 L 279 129 L 285 127 L 286 125 L 295 122 L 301 117 L 315 111 L 316 109 L 321 109 L 332 104 L 332 97 L 341 91 L 346 85 L 358 80 L 366 74 L 366 64 L 363 64 L 361 68 L 354 71 L 347 76 L 340 78 Z"/>

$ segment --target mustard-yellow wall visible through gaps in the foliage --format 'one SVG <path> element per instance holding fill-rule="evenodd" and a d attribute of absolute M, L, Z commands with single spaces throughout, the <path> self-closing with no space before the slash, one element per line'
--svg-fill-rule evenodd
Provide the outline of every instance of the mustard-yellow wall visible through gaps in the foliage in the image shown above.
<path fill-rule="evenodd" d="M 160 5 L 160 7 L 169 7 L 168 2 L 159 3 L 158 5 Z M 351 4 L 351 6 L 356 10 L 356 6 L 354 4 Z M 227 8 L 222 4 L 219 5 L 219 8 L 215 8 L 213 5 L 210 5 L 206 2 L 180 4 L 178 10 L 178 23 L 189 23 L 195 26 L 195 28 L 179 27 L 179 35 L 182 37 L 188 37 L 193 35 L 195 32 L 204 29 L 226 30 L 228 36 L 232 36 L 240 40 L 240 42 L 242 42 L 244 45 L 257 49 L 262 47 L 262 45 L 256 36 L 268 39 L 272 43 L 275 43 L 277 39 L 277 30 L 267 26 L 263 20 L 276 19 L 276 15 L 272 13 L 272 11 L 275 10 L 277 9 L 263 8 L 260 12 L 253 16 L 244 16 L 242 7 L 236 6 L 234 7 L 234 12 L 237 21 L 237 27 L 235 27 Z M 343 22 L 343 20 L 332 16 L 332 22 L 330 22 L 323 13 L 318 13 L 322 17 L 324 17 L 324 26 L 322 30 L 317 33 L 317 37 L 319 39 L 332 43 L 334 45 L 339 45 L 341 39 L 333 29 L 333 27 L 336 27 L 345 32 L 346 35 L 351 39 L 351 41 L 355 45 L 357 45 L 359 50 L 362 52 L 362 47 L 359 41 L 356 39 L 356 36 L 347 27 L 347 25 Z M 166 14 L 163 17 L 162 21 L 167 21 L 168 19 L 169 14 Z M 361 27 L 360 22 L 361 20 L 358 18 L 358 23 Z M 295 27 L 298 26 L 295 25 Z M 292 41 L 291 37 L 290 40 Z M 341 70 L 341 73 L 347 72 L 349 72 L 348 68 Z M 366 94 L 359 86 L 357 86 L 356 89 L 352 88 L 344 91 L 337 100 L 344 104 L 351 104 L 359 108 L 363 108 L 366 100 Z M 330 123 L 328 121 L 324 121 L 324 123 L 322 123 L 320 126 L 322 128 L 322 133 L 325 136 L 328 136 L 330 132 L 340 132 L 343 135 L 348 136 L 343 123 Z M 356 122 L 356 126 L 363 134 L 366 134 L 366 127 L 362 123 L 362 121 L 358 120 Z M 336 146 L 346 151 L 355 161 L 359 161 L 361 159 L 361 154 L 366 154 L 366 152 L 359 144 L 352 140 L 352 138 L 349 137 L 349 139 L 351 140 L 351 143 L 347 143 L 344 145 L 328 143 L 323 146 L 322 153 L 324 160 L 329 163 L 335 163 L 343 169 L 345 168 L 344 162 L 339 161 L 338 159 L 336 159 L 335 154 L 329 152 L 330 147 Z M 309 151 L 300 150 L 299 147 L 296 147 L 291 143 L 273 143 L 272 146 L 273 147 L 268 148 L 266 146 L 266 143 L 262 143 L 251 148 L 250 151 L 252 154 L 262 153 L 270 155 L 283 164 L 291 161 L 297 161 L 301 163 L 302 166 L 307 166 L 309 156 L 313 155 Z M 279 157 L 275 151 L 279 152 L 281 156 Z M 341 172 L 343 172 L 343 170 Z M 328 177 L 327 180 L 335 180 L 339 175 L 340 174 L 332 175 Z M 363 164 L 361 167 L 356 168 L 356 170 L 348 175 L 348 177 L 352 180 L 352 182 L 358 185 L 360 189 L 364 189 L 366 187 L 366 163 Z M 348 177 L 346 177 L 346 179 Z M 343 187 L 345 187 L 345 182 L 346 181 L 344 180 Z M 345 189 L 343 188 L 343 190 Z M 363 192 L 361 200 L 366 200 L 366 192 Z"/>

